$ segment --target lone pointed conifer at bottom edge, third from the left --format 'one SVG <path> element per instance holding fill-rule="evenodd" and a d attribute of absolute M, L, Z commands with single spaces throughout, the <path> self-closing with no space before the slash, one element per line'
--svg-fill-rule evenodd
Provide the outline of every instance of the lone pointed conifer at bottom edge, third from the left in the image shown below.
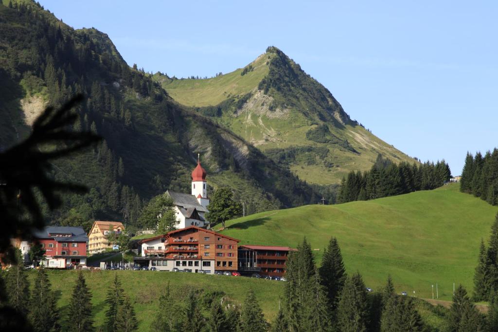
<path fill-rule="evenodd" d="M 69 304 L 67 316 L 68 327 L 71 331 L 93 331 L 92 294 L 88 290 L 83 272 L 78 273 L 78 280 L 73 289 L 73 296 Z"/>

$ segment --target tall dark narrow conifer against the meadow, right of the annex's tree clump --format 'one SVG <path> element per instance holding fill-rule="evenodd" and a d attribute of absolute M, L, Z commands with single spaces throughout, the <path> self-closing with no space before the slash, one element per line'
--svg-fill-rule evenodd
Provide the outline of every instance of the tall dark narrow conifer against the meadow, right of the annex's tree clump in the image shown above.
<path fill-rule="evenodd" d="M 333 312 L 337 309 L 339 294 L 346 280 L 346 269 L 344 268 L 341 248 L 335 237 L 330 239 L 329 245 L 323 253 L 320 278 L 327 292 L 329 308 Z"/>

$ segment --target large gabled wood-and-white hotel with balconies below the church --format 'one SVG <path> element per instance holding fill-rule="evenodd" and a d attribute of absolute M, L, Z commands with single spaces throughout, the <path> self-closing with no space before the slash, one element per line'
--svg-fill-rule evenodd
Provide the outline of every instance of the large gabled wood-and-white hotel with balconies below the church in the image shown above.
<path fill-rule="evenodd" d="M 143 239 L 137 265 L 172 271 L 189 269 L 214 273 L 237 271 L 238 239 L 198 226 L 188 226 L 167 234 Z"/>

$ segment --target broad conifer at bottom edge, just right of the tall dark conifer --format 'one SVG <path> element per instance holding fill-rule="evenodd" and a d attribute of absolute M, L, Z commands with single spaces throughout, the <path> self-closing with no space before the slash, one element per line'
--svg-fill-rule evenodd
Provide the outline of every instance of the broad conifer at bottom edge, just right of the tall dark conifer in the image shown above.
<path fill-rule="evenodd" d="M 369 324 L 367 291 L 360 273 L 347 278 L 337 308 L 337 325 L 341 331 L 367 331 Z"/>

